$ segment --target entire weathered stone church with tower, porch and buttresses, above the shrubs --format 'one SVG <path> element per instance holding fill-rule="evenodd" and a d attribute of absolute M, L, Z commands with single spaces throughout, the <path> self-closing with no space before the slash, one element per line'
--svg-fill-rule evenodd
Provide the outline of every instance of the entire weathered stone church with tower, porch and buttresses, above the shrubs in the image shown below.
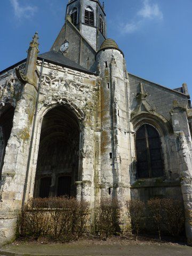
<path fill-rule="evenodd" d="M 0 72 L 0 245 L 14 239 L 31 197 L 173 197 L 192 244 L 191 121 L 187 85 L 175 90 L 130 74 L 107 39 L 98 0 L 71 0 L 49 52 Z"/>

